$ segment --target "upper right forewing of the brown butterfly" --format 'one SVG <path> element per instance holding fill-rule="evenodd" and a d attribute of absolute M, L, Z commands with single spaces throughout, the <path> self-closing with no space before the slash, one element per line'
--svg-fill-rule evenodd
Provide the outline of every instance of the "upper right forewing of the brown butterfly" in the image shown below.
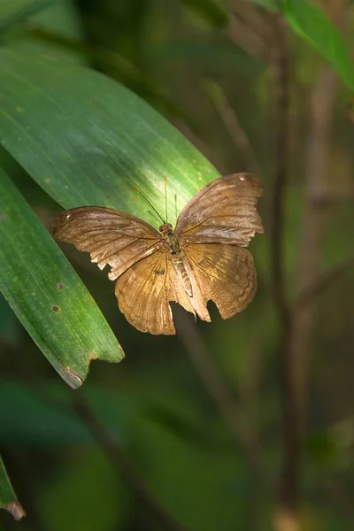
<path fill-rule="evenodd" d="M 263 225 L 256 210 L 262 187 L 252 173 L 210 182 L 182 210 L 175 233 L 181 242 L 231 243 L 245 247 Z"/>

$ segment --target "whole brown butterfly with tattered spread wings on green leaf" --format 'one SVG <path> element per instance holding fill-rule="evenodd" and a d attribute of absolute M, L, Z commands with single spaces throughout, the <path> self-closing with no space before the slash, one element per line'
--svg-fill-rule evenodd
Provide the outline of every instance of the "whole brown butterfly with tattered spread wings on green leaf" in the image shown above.
<path fill-rule="evenodd" d="M 142 332 L 175 334 L 170 302 L 210 321 L 212 300 L 227 319 L 252 300 L 257 275 L 246 247 L 263 232 L 255 175 L 234 173 L 210 182 L 182 210 L 175 229 L 101 206 L 64 211 L 54 237 L 86 250 L 100 269 L 112 267 L 119 309 Z"/>

